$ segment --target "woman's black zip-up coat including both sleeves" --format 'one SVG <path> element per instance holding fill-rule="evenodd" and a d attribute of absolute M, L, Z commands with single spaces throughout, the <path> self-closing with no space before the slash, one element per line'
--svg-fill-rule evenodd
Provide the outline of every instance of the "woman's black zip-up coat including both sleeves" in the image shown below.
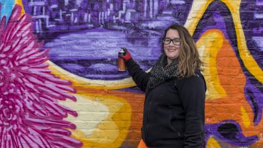
<path fill-rule="evenodd" d="M 148 147 L 203 148 L 206 81 L 200 71 L 188 78 L 171 78 L 153 89 L 150 73 L 132 59 L 126 66 L 145 92 L 142 139 Z"/>

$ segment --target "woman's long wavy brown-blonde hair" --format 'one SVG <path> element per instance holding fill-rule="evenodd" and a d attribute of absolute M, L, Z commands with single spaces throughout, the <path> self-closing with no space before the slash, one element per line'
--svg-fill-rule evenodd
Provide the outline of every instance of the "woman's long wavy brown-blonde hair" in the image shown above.
<path fill-rule="evenodd" d="M 164 32 L 164 37 L 169 29 L 177 30 L 181 38 L 181 52 L 178 57 L 177 74 L 179 78 L 194 75 L 196 69 L 204 71 L 204 62 L 201 61 L 195 42 L 188 30 L 179 24 L 170 25 Z"/>

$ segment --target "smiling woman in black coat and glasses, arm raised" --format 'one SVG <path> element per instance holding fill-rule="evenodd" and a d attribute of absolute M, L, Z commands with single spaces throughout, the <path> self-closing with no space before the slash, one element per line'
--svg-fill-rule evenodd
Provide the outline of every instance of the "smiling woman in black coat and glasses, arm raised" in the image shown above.
<path fill-rule="evenodd" d="M 142 139 L 139 147 L 203 148 L 206 82 L 203 62 L 188 30 L 170 25 L 164 34 L 164 53 L 145 73 L 126 50 L 126 66 L 145 92 Z"/>

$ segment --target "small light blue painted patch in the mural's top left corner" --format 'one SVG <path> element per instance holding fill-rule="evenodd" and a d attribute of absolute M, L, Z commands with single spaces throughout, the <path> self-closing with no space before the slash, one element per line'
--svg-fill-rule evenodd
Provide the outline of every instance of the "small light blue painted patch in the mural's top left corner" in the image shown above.
<path fill-rule="evenodd" d="M 6 20 L 9 19 L 9 16 L 12 13 L 12 9 L 15 5 L 14 0 L 0 0 L 1 4 L 1 13 L 0 13 L 0 19 L 2 19 L 3 16 L 6 16 Z"/>

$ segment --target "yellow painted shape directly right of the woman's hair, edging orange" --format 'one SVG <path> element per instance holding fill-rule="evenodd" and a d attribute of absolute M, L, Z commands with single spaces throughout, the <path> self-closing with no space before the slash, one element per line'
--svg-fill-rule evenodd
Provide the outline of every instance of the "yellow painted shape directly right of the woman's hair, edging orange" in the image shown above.
<path fill-rule="evenodd" d="M 196 42 L 198 51 L 201 50 L 200 56 L 207 63 L 203 72 L 207 82 L 207 100 L 226 96 L 216 69 L 217 53 L 221 49 L 224 39 L 225 37 L 220 30 L 211 29 L 206 31 Z"/>

